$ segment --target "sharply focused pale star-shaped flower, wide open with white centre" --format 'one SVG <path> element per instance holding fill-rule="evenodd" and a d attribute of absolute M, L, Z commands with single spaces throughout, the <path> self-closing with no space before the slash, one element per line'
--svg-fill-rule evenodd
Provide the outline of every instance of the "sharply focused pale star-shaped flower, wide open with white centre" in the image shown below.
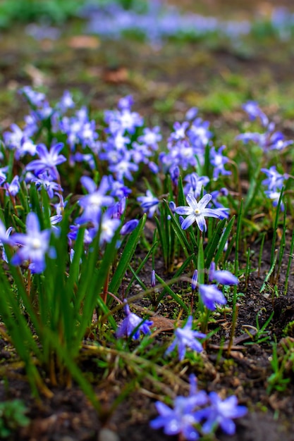
<path fill-rule="evenodd" d="M 176 209 L 176 213 L 188 215 L 181 225 L 183 230 L 186 230 L 192 225 L 192 223 L 196 222 L 200 231 L 206 231 L 207 225 L 204 217 L 219 218 L 221 216 L 221 213 L 216 209 L 206 208 L 207 204 L 209 204 L 209 201 L 212 199 L 211 194 L 204 194 L 204 197 L 202 197 L 199 202 L 196 201 L 191 193 L 187 194 L 186 199 L 189 206 L 178 206 Z"/>

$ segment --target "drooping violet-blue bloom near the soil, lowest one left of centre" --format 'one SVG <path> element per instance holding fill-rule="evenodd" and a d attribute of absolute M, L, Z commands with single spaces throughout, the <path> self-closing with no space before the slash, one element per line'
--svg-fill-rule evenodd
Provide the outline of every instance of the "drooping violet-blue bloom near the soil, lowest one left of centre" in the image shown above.
<path fill-rule="evenodd" d="M 123 306 L 123 311 L 125 313 L 125 318 L 118 330 L 116 330 L 117 338 L 130 337 L 130 335 L 133 335 L 133 340 L 138 340 L 141 331 L 145 335 L 151 333 L 149 326 L 151 326 L 153 322 L 140 318 L 133 312 L 130 312 L 130 306 L 128 306 L 126 300 L 125 306 Z"/>

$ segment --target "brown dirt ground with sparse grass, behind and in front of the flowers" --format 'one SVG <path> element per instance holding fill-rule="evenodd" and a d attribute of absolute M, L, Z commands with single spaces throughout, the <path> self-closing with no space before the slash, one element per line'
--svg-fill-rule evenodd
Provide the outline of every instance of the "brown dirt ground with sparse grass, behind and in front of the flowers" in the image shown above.
<path fill-rule="evenodd" d="M 197 2 L 199 3 L 199 2 Z M 234 17 L 248 17 L 255 11 L 267 13 L 274 1 L 247 1 L 232 8 L 231 1 L 209 0 L 196 2 L 185 0 L 183 7 L 194 11 Z M 293 6 L 291 1 L 283 1 Z M 197 9 L 199 8 L 199 9 Z M 0 40 L 0 126 L 6 130 L 13 122 L 20 123 L 26 108 L 20 105 L 16 90 L 23 85 L 43 86 L 49 99 L 58 99 L 64 89 L 70 89 L 75 97 L 89 104 L 92 116 L 99 117 L 105 108 L 113 108 L 120 97 L 133 94 L 135 110 L 150 124 L 159 124 L 166 131 L 175 120 L 181 120 L 190 106 L 199 106 L 203 118 L 212 122 L 222 138 L 230 140 L 238 132 L 238 124 L 244 120 L 240 105 L 246 99 L 258 99 L 270 115 L 278 113 L 276 122 L 286 135 L 293 136 L 293 44 L 273 42 L 270 39 L 260 44 L 247 42 L 243 47 L 224 46 L 221 42 L 195 42 L 182 44 L 169 42 L 154 49 L 142 42 L 103 42 L 98 37 L 83 35 L 81 23 L 66 26 L 56 42 L 35 41 L 25 35 L 23 27 L 17 25 L 9 32 L 3 32 Z M 21 44 L 20 44 L 21 42 Z M 270 50 L 269 50 L 270 48 Z M 292 56 L 292 58 L 291 58 Z M 292 119 L 291 119 L 292 118 Z M 288 232 L 288 239 L 291 232 Z M 248 239 L 248 246 L 255 250 L 252 269 L 257 268 L 259 245 L 255 238 Z M 252 243 L 249 243 L 252 242 Z M 261 323 L 274 316 L 267 330 L 270 340 L 261 344 L 237 344 L 231 357 L 219 351 L 212 344 L 202 354 L 202 365 L 185 370 L 181 366 L 178 377 L 187 380 L 194 371 L 199 385 L 206 390 L 235 393 L 240 404 L 249 409 L 247 416 L 237 422 L 238 430 L 233 437 L 217 434 L 223 441 L 280 441 L 294 440 L 294 382 L 290 366 L 290 383 L 284 392 L 273 390 L 267 393 L 267 379 L 272 373 L 270 357 L 271 340 L 276 336 L 279 342 L 282 330 L 294 320 L 293 273 L 290 275 L 288 292 L 283 295 L 284 274 L 288 263 L 281 268 L 278 280 L 278 297 L 271 299 L 270 287 L 262 294 L 259 290 L 269 271 L 271 237 L 267 237 L 262 256 L 260 275 L 252 272 L 245 290 L 241 282 L 238 325 L 235 336 L 243 333 L 243 325 L 256 326 L 259 311 Z M 140 251 L 138 251 L 140 252 Z M 242 256 L 241 256 L 242 260 Z M 158 268 L 157 268 L 158 269 Z M 149 280 L 149 268 L 142 274 L 142 280 Z M 160 274 L 160 271 L 159 271 Z M 163 274 L 162 274 L 163 275 Z M 147 301 L 142 302 L 144 306 Z M 140 304 L 139 304 L 140 306 Z M 173 318 L 173 302 L 166 299 L 159 313 Z M 223 338 L 226 340 L 231 326 L 231 315 L 220 322 Z M 161 337 L 171 332 L 161 333 Z M 160 344 L 160 343 L 159 343 Z M 0 341 L 0 371 L 4 380 L 0 383 L 0 399 L 21 398 L 25 401 L 31 419 L 30 426 L 19 430 L 11 440 L 27 441 L 109 441 L 102 433 L 101 422 L 95 411 L 78 387 L 71 390 L 53 390 L 52 399 L 42 398 L 40 403 L 32 399 L 30 388 L 22 368 L 17 368 L 16 358 L 6 342 Z M 218 358 L 217 358 L 218 357 Z M 131 378 L 128 370 L 118 373 L 114 368 L 107 378 L 93 359 L 82 362 L 82 368 L 91 373 L 105 407 L 111 404 L 121 388 Z M 174 385 L 170 385 L 175 387 Z M 177 387 L 175 387 L 175 390 Z M 187 392 L 183 384 L 178 393 Z M 106 427 L 113 430 L 121 441 L 176 440 L 160 430 L 149 428 L 149 420 L 156 416 L 154 401 L 159 399 L 152 385 L 142 382 L 118 406 Z M 116 440 L 116 438 L 114 439 Z"/>

